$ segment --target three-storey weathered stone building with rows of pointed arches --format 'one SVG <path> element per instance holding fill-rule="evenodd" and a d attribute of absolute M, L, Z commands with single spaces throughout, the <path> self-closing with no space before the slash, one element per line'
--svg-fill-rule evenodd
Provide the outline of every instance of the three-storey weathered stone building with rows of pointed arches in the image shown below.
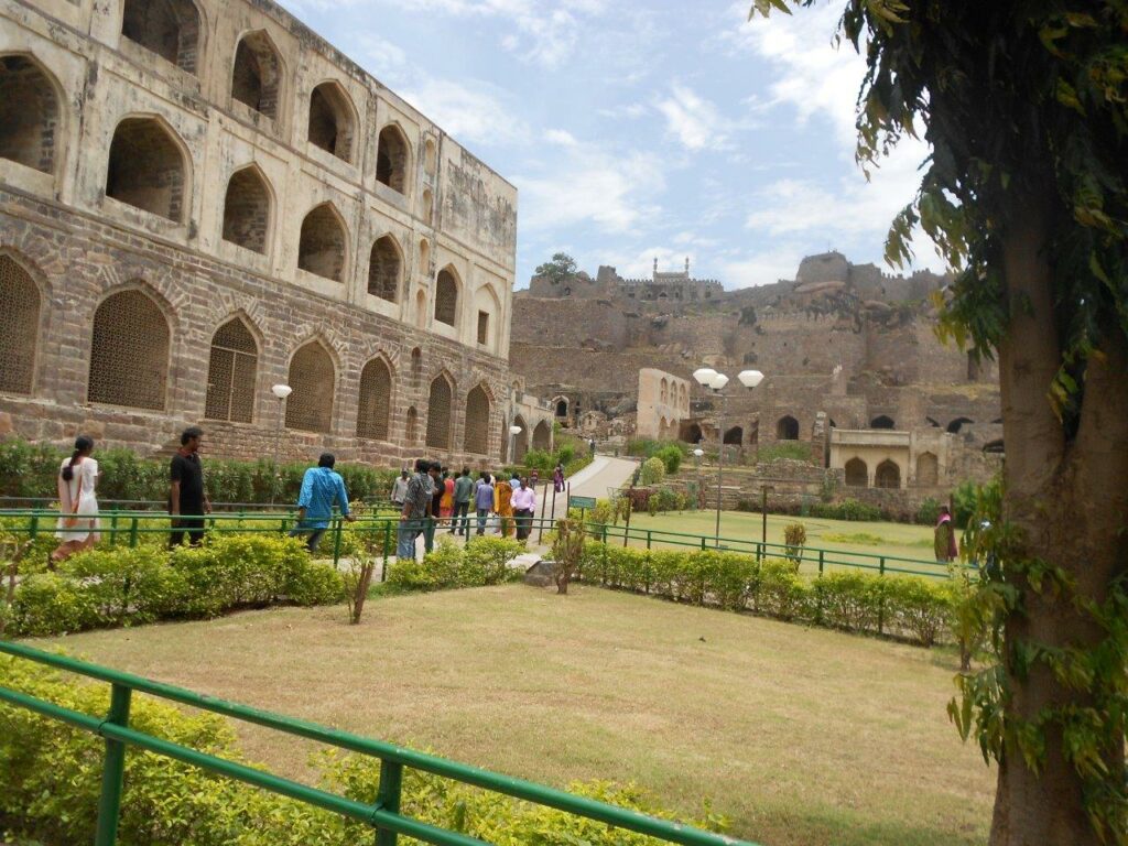
<path fill-rule="evenodd" d="M 517 420 L 547 444 L 508 363 L 515 210 L 270 0 L 5 3 L 0 434 L 479 464 Z"/>

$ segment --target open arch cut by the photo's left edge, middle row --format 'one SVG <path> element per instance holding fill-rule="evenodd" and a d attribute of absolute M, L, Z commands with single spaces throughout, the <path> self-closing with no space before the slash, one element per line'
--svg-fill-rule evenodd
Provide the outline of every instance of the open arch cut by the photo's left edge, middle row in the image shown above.
<path fill-rule="evenodd" d="M 59 98 L 47 74 L 30 59 L 0 59 L 0 158 L 54 171 Z"/>

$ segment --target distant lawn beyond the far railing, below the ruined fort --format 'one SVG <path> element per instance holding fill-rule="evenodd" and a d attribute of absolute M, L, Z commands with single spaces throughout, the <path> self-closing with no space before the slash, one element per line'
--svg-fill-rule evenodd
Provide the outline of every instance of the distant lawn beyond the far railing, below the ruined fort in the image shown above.
<path fill-rule="evenodd" d="M 721 537 L 757 541 L 761 538 L 763 515 L 746 511 L 721 513 Z M 844 561 L 853 561 L 878 566 L 875 556 L 893 556 L 919 561 L 933 561 L 932 529 L 927 526 L 893 522 L 855 522 L 852 520 L 825 520 L 814 517 L 768 514 L 767 539 L 769 544 L 783 544 L 784 527 L 802 523 L 807 528 L 808 547 L 831 549 Z M 620 523 L 622 525 L 622 523 Z M 713 536 L 716 528 L 715 511 L 669 511 L 651 517 L 636 513 L 631 517 L 632 537 L 635 529 L 680 531 L 688 535 Z M 622 541 L 619 541 L 622 543 Z M 645 541 L 632 540 L 632 546 L 644 546 Z M 653 541 L 653 548 L 676 548 L 675 544 Z M 682 547 L 684 548 L 684 547 Z M 816 571 L 817 555 L 804 557 L 804 572 Z M 933 567 L 943 573 L 943 567 Z"/>

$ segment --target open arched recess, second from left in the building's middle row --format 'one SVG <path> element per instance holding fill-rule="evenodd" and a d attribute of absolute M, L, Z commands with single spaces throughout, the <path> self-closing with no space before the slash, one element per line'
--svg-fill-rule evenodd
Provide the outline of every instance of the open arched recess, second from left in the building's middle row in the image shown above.
<path fill-rule="evenodd" d="M 180 222 L 187 205 L 184 155 L 160 121 L 126 117 L 114 130 L 106 196 Z"/>

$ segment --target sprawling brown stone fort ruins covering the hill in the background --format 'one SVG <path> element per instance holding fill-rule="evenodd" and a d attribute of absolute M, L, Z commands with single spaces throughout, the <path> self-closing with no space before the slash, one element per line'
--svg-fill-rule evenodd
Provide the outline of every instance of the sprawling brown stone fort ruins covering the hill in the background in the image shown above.
<path fill-rule="evenodd" d="M 834 252 L 804 258 L 794 280 L 734 291 L 693 279 L 688 261 L 678 273 L 655 263 L 651 280 L 611 267 L 534 277 L 514 298 L 513 361 L 532 393 L 553 398 L 557 420 L 585 435 L 746 455 L 795 442 L 829 472 L 811 478 L 946 497 L 994 473 L 1003 433 L 994 364 L 936 337 L 944 284 Z M 691 378 L 703 365 L 767 377 L 750 393 L 733 378 L 723 431 L 716 398 Z M 663 381 L 689 386 L 688 409 L 661 402 Z"/>

